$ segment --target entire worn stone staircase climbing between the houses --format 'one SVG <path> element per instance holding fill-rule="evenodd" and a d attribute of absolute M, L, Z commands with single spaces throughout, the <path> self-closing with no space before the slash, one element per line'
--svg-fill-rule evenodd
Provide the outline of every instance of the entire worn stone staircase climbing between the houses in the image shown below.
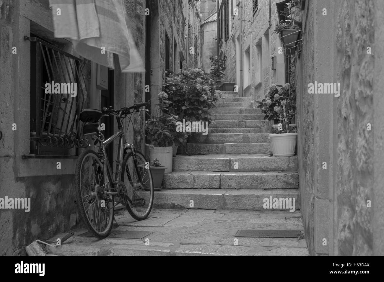
<path fill-rule="evenodd" d="M 263 199 L 272 196 L 295 198 L 300 209 L 297 157 L 270 157 L 270 127 L 260 109 L 250 97 L 222 93 L 211 110 L 215 125 L 179 148 L 184 155 L 173 158 L 154 208 L 265 211 Z"/>

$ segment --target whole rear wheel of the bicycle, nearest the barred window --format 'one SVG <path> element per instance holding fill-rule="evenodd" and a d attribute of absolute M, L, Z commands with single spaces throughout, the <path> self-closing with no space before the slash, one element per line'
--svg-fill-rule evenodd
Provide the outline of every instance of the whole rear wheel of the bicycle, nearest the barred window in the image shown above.
<path fill-rule="evenodd" d="M 83 152 L 76 163 L 75 185 L 81 217 L 89 232 L 99 239 L 109 235 L 113 226 L 113 198 L 103 163 L 93 150 Z"/>

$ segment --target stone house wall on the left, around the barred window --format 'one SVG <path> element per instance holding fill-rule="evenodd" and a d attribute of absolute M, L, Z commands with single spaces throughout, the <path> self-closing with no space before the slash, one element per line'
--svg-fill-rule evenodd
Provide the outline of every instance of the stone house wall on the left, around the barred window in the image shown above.
<path fill-rule="evenodd" d="M 119 108 L 144 101 L 156 104 L 166 67 L 170 70 L 181 65 L 188 67 L 187 0 L 124 0 L 123 5 L 127 26 L 147 71 L 123 74 L 118 57 L 114 56 L 114 69 L 107 69 L 108 89 L 103 90 L 96 87 L 99 66 L 80 58 L 82 87 L 88 95 L 83 108 Z M 145 13 L 146 8 L 149 15 Z M 31 150 L 31 124 L 34 123 L 31 112 L 35 107 L 30 101 L 34 101 L 31 97 L 36 95 L 31 81 L 36 78 L 36 72 L 31 69 L 33 43 L 25 36 L 48 42 L 68 56 L 76 57 L 69 40 L 53 36 L 48 0 L 0 2 L 0 198 L 31 199 L 29 212 L 0 209 L 1 255 L 24 254 L 23 246 L 69 231 L 80 219 L 74 203 L 73 179 L 76 155 L 81 149 L 54 155 L 53 148 L 48 157 L 33 154 Z M 167 50 L 166 38 L 169 39 Z M 150 92 L 144 91 L 146 85 L 150 86 Z M 105 120 L 105 125 L 109 133 L 116 130 L 116 121 Z M 135 142 L 144 149 L 144 114 L 135 115 L 134 125 L 126 137 L 127 142 Z M 116 153 L 116 146 L 110 153 Z"/>

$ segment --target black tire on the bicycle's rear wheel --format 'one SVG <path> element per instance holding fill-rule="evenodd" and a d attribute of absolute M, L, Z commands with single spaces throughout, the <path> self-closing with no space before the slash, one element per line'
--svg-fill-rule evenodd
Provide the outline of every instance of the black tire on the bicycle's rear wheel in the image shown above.
<path fill-rule="evenodd" d="M 81 180 L 82 180 L 82 176 L 81 176 L 82 170 L 81 169 L 83 168 L 83 163 L 84 163 L 85 158 L 88 156 L 92 156 L 94 158 L 94 160 L 96 160 L 98 162 L 99 167 L 101 169 L 103 169 L 103 164 L 101 163 L 99 155 L 96 152 L 94 152 L 93 150 L 86 150 L 83 153 L 81 153 L 81 155 L 79 156 L 79 158 L 76 162 L 76 170 L 75 170 L 75 187 L 76 187 L 77 203 L 78 203 L 78 208 L 79 208 L 79 211 L 81 214 L 81 218 L 83 219 L 84 224 L 86 225 L 88 231 L 93 236 L 95 236 L 99 239 L 104 239 L 105 237 L 107 237 L 109 235 L 109 233 L 111 232 L 111 229 L 113 227 L 113 219 L 114 219 L 113 201 L 112 202 L 105 201 L 106 209 L 109 210 L 109 215 L 108 215 L 109 221 L 108 221 L 106 228 L 104 228 L 102 231 L 96 230 L 93 226 L 93 223 L 91 222 L 91 220 L 88 217 L 89 212 L 87 213 L 86 207 L 84 206 L 83 198 L 85 196 L 83 196 L 82 189 L 81 189 L 81 186 L 82 186 L 81 185 L 82 184 L 81 183 Z M 91 170 L 93 170 L 93 172 L 94 172 L 94 167 L 92 167 Z M 99 181 L 97 181 L 96 177 L 95 177 L 95 184 L 96 185 L 94 188 L 95 189 L 94 194 L 98 195 L 98 191 L 99 191 L 98 189 L 101 189 L 99 185 L 101 184 L 102 186 L 104 186 L 105 185 L 104 183 L 106 183 L 107 178 L 108 178 L 108 175 L 104 175 L 104 172 L 103 172 L 103 181 L 104 181 L 103 183 L 101 183 L 102 180 L 100 178 L 99 178 Z M 97 183 L 97 182 L 99 182 L 99 183 Z M 111 183 L 111 181 L 109 181 L 109 183 Z M 99 187 L 97 187 L 97 186 L 99 186 Z M 95 196 L 95 197 L 96 197 L 96 200 L 99 201 L 99 199 L 97 198 L 98 196 Z M 86 198 L 85 200 L 87 200 L 87 199 L 88 198 Z M 89 206 L 91 206 L 91 204 Z M 100 211 L 101 207 L 99 207 L 98 204 L 94 205 L 94 207 L 96 207 L 96 206 L 98 206 L 98 211 Z M 90 207 L 88 209 L 90 209 Z M 93 209 L 96 209 L 96 208 L 93 208 Z M 96 213 L 96 215 L 97 215 L 97 213 Z M 93 216 L 93 214 L 91 214 L 91 216 Z M 100 225 L 101 225 L 101 223 L 102 222 L 100 221 Z M 97 219 L 96 219 L 96 224 L 97 224 Z"/>

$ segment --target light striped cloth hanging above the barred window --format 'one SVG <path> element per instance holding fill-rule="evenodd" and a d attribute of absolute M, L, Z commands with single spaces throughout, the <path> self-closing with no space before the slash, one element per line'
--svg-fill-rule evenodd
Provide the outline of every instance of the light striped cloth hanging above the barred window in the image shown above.
<path fill-rule="evenodd" d="M 122 0 L 49 0 L 55 37 L 70 38 L 86 59 L 121 71 L 143 72 L 144 64 L 127 28 Z"/>

